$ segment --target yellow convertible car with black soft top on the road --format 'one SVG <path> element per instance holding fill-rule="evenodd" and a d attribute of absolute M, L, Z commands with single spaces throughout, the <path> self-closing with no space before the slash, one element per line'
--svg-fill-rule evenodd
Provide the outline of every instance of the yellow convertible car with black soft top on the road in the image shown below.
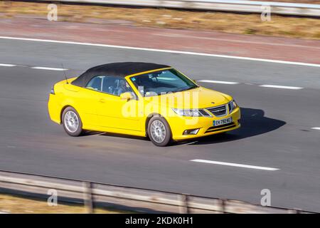
<path fill-rule="evenodd" d="M 66 78 L 51 89 L 48 111 L 71 136 L 94 130 L 149 137 L 157 146 L 240 127 L 230 95 L 156 63 L 108 63 Z"/>

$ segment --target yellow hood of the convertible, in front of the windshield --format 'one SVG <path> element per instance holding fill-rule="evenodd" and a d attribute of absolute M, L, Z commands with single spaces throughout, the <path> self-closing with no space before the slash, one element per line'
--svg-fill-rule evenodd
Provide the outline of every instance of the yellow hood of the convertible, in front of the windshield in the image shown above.
<path fill-rule="evenodd" d="M 154 105 L 165 105 L 168 108 L 208 108 L 228 103 L 232 98 L 230 95 L 199 87 L 177 93 L 146 97 L 144 100 Z"/>

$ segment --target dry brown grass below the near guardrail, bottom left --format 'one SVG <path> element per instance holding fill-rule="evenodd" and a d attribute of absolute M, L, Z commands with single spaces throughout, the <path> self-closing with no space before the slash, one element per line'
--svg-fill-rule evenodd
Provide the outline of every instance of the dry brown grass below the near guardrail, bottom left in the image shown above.
<path fill-rule="evenodd" d="M 82 204 L 60 203 L 57 206 L 50 207 L 45 200 L 1 194 L 0 212 L 11 214 L 83 214 L 85 213 L 85 207 Z M 116 214 L 120 212 L 117 210 L 95 209 L 95 213 L 99 214 Z"/>

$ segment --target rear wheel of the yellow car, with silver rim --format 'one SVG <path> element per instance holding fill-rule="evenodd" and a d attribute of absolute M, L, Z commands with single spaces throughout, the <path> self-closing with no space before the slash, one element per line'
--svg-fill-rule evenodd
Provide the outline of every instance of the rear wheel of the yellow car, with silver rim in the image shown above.
<path fill-rule="evenodd" d="M 77 111 L 68 107 L 63 110 L 63 128 L 65 132 L 73 137 L 79 136 L 82 133 L 82 122 Z"/>

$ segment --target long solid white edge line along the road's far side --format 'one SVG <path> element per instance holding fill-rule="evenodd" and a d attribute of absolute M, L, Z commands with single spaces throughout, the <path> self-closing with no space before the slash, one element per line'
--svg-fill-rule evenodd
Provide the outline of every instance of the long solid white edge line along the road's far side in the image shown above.
<path fill-rule="evenodd" d="M 174 50 L 156 49 L 156 48 L 137 48 L 132 46 L 118 46 L 118 45 L 109 45 L 109 44 L 102 44 L 102 43 L 81 43 L 81 42 L 74 42 L 74 41 L 56 41 L 56 40 L 46 40 L 46 39 L 39 39 L 39 38 L 19 38 L 19 37 L 11 37 L 11 36 L 0 36 L 0 38 L 20 40 L 20 41 L 38 41 L 38 42 L 48 42 L 48 43 L 67 43 L 67 44 L 76 44 L 76 45 L 85 45 L 85 46 L 100 46 L 100 47 L 106 47 L 106 48 L 123 48 L 123 49 L 139 50 L 139 51 L 157 51 L 157 52 L 164 52 L 164 53 L 178 53 L 178 54 L 193 55 L 193 56 L 235 58 L 235 59 L 241 59 L 241 60 L 247 60 L 247 61 L 260 61 L 260 62 L 269 62 L 269 63 L 282 63 L 282 64 L 291 64 L 291 65 L 299 65 L 299 66 L 320 67 L 320 64 L 316 64 L 316 63 L 301 63 L 301 62 L 293 62 L 293 61 L 280 61 L 280 60 L 267 59 L 267 58 L 250 58 L 250 57 L 242 57 L 242 56 L 225 56 L 225 55 L 215 55 L 215 54 L 209 54 L 209 53 L 198 53 L 198 52 L 192 52 L 192 51 L 174 51 Z"/>

